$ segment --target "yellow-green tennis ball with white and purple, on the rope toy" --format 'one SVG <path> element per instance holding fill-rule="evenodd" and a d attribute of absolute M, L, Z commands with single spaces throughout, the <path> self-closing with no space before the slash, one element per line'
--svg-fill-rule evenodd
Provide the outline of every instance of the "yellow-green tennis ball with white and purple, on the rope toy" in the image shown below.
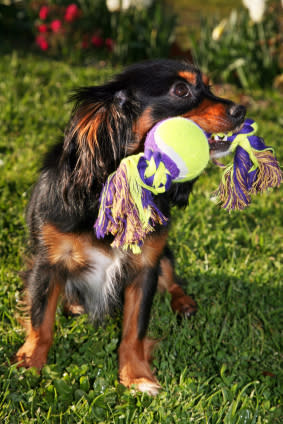
<path fill-rule="evenodd" d="M 145 141 L 145 156 L 149 151 L 162 153 L 162 161 L 173 182 L 193 180 L 209 161 L 209 145 L 205 133 L 193 121 L 181 116 L 156 124 Z"/>

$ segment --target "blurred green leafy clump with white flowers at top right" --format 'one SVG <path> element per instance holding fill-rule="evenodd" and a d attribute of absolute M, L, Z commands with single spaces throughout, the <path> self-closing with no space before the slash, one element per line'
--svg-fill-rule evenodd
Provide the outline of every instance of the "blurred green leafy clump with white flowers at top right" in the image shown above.
<path fill-rule="evenodd" d="M 248 9 L 233 10 L 228 18 L 202 19 L 199 34 L 192 37 L 193 56 L 214 81 L 271 86 L 282 72 L 282 6 L 279 1 L 243 3 Z"/>

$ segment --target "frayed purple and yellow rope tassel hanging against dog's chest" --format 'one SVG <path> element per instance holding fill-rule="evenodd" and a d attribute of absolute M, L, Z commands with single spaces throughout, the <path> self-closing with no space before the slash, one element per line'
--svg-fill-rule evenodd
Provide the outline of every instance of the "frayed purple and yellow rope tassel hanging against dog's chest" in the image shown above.
<path fill-rule="evenodd" d="M 94 224 L 96 235 L 103 238 L 112 234 L 112 247 L 141 252 L 145 237 L 167 218 L 153 201 L 138 171 L 141 155 L 124 159 L 116 172 L 110 175 L 101 193 L 98 218 Z"/>

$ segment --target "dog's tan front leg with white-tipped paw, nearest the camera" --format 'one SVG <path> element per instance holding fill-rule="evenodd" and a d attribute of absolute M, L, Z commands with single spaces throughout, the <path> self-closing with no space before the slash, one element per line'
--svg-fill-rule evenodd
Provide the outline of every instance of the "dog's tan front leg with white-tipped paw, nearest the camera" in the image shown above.
<path fill-rule="evenodd" d="M 160 385 L 150 369 L 155 344 L 146 337 L 150 309 L 157 287 L 158 269 L 142 269 L 125 290 L 122 342 L 119 348 L 120 381 L 127 387 L 156 395 Z"/>

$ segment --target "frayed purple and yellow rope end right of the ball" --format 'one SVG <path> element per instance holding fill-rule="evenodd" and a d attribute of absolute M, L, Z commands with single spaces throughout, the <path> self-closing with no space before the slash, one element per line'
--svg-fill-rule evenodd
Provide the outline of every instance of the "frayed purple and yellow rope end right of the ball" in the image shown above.
<path fill-rule="evenodd" d="M 246 119 L 238 133 L 207 134 L 212 139 L 226 139 L 231 143 L 229 150 L 234 152 L 234 160 L 225 167 L 220 185 L 214 192 L 217 202 L 229 211 L 244 209 L 251 202 L 251 194 L 279 187 L 282 181 L 274 150 L 255 135 L 257 129 L 256 122 Z"/>

